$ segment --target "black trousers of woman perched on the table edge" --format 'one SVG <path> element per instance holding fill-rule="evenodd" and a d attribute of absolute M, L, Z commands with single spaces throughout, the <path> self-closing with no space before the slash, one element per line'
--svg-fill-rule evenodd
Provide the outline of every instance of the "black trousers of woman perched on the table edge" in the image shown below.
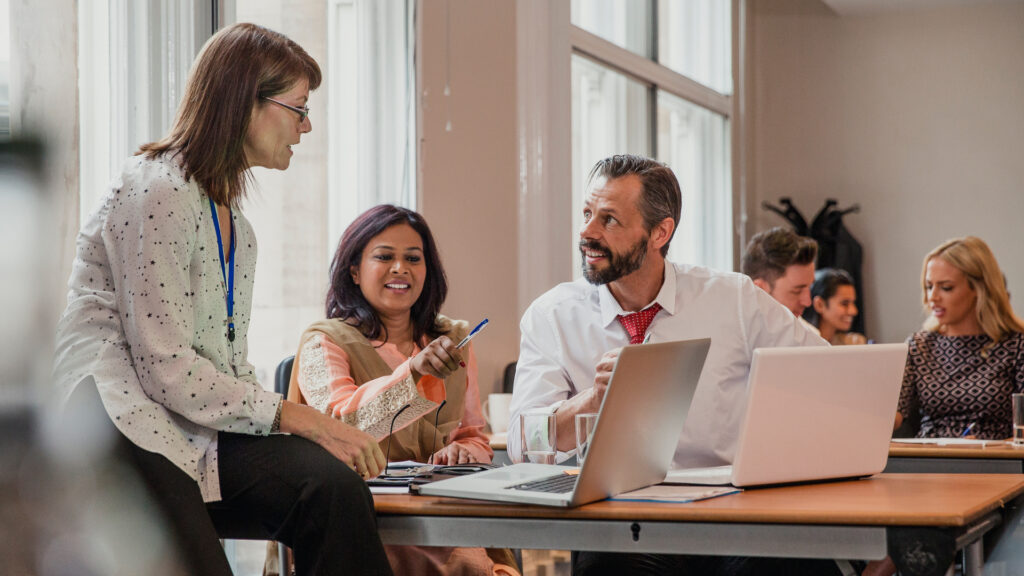
<path fill-rule="evenodd" d="M 143 481 L 189 574 L 231 574 L 220 538 L 283 542 L 295 553 L 299 576 L 391 574 L 370 489 L 318 445 L 288 435 L 220 433 L 221 500 L 207 504 L 188 475 L 117 430 L 94 386 L 78 388 L 73 404 L 91 405 L 93 414 L 98 407 L 96 417 L 116 435 L 112 456 Z"/>

